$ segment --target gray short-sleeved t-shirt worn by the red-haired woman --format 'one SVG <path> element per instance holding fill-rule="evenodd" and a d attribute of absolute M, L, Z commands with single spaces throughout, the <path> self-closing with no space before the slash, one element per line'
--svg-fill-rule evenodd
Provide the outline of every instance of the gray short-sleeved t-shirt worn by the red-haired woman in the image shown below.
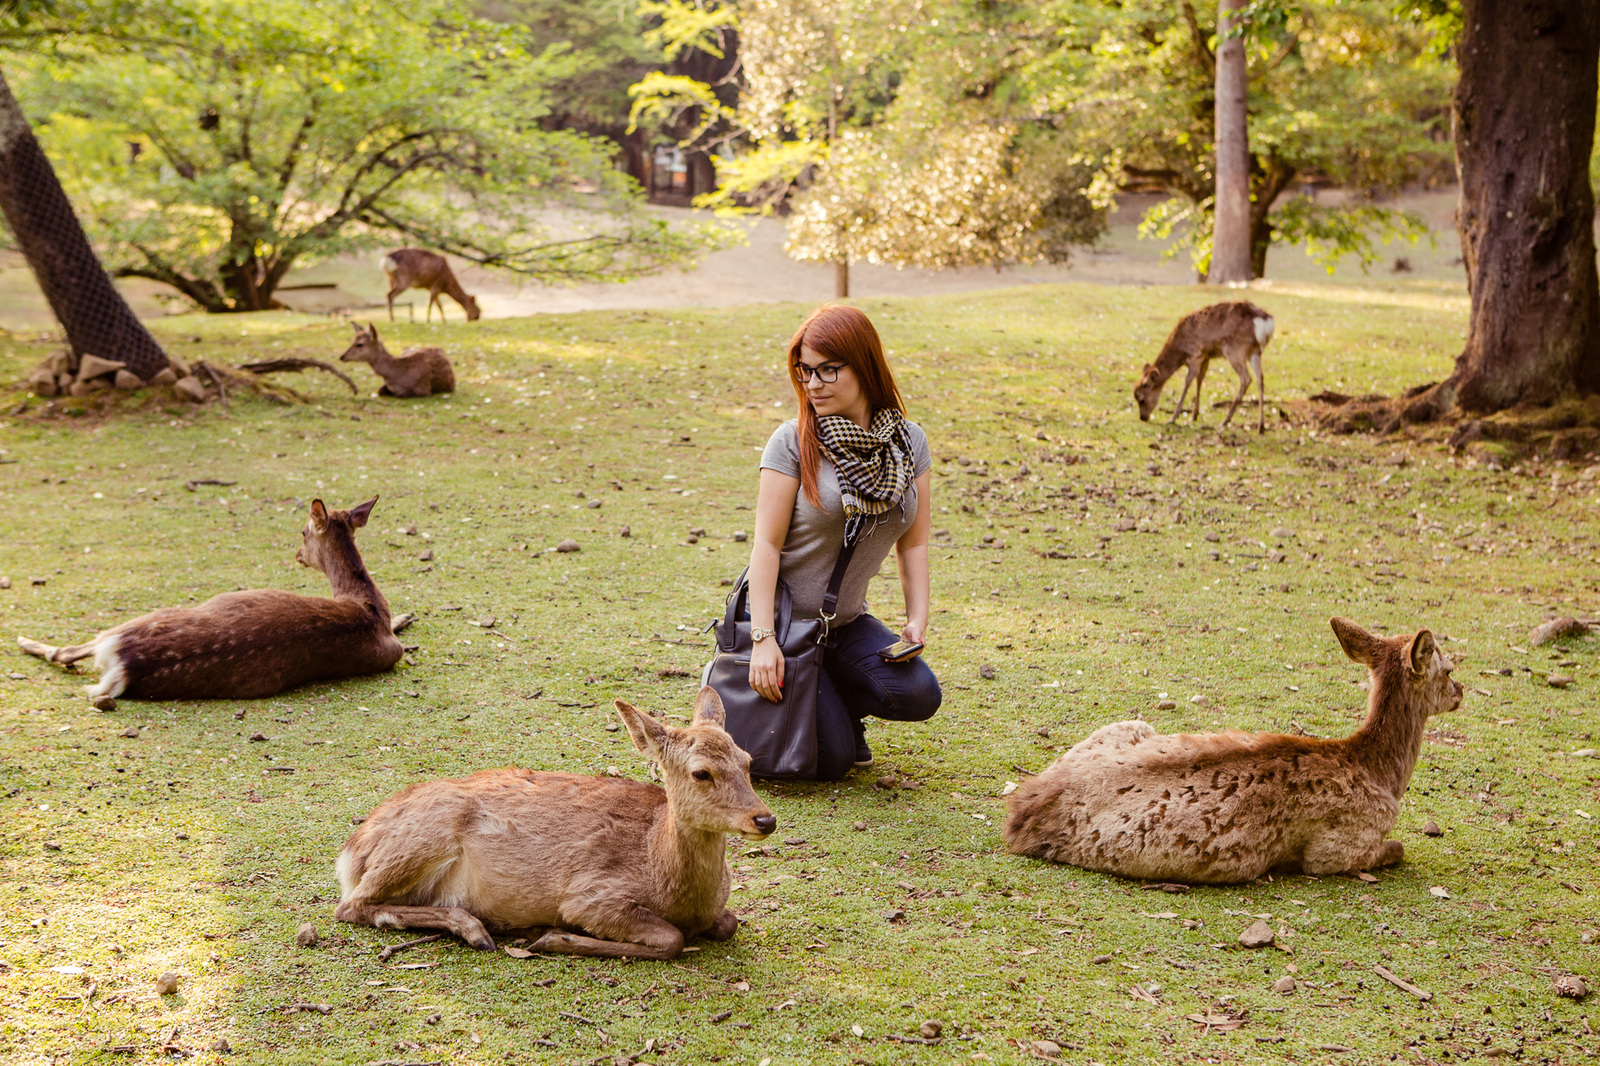
<path fill-rule="evenodd" d="M 922 477 L 933 466 L 928 455 L 928 434 L 922 426 L 906 423 L 912 447 L 912 474 Z M 766 442 L 762 451 L 762 469 L 778 471 L 789 477 L 800 477 L 800 427 L 795 419 L 789 419 Z M 784 551 L 778 562 L 778 576 L 789 586 L 794 597 L 795 618 L 816 618 L 822 610 L 822 594 L 827 592 L 827 579 L 834 576 L 834 563 L 838 562 L 838 549 L 845 546 L 845 503 L 838 495 L 838 472 L 822 455 L 816 469 L 816 491 L 822 503 L 813 507 L 805 490 L 795 495 L 795 512 L 789 519 L 789 536 L 784 539 Z M 888 559 L 910 523 L 917 519 L 917 487 L 906 488 L 904 507 L 890 507 L 882 515 L 877 528 L 856 544 L 856 554 L 850 559 L 850 570 L 845 571 L 845 583 L 838 591 L 838 619 L 835 624 L 854 621 L 867 608 L 867 583 Z"/>

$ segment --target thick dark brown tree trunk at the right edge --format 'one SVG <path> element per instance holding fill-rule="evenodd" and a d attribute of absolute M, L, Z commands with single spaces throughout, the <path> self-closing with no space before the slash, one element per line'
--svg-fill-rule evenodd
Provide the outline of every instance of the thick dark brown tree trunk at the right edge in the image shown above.
<path fill-rule="evenodd" d="M 1456 226 L 1472 319 L 1421 411 L 1496 411 L 1600 391 L 1589 152 L 1600 3 L 1467 0 L 1456 54 Z"/>

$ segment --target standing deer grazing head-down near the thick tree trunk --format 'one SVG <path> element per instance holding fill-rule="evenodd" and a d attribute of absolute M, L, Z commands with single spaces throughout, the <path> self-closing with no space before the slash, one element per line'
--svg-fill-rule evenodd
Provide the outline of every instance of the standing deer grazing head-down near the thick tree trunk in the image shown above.
<path fill-rule="evenodd" d="M 1162 346 L 1162 354 L 1154 363 L 1144 365 L 1139 384 L 1133 389 L 1133 399 L 1139 403 L 1139 421 L 1150 421 L 1155 405 L 1162 402 L 1162 386 L 1178 373 L 1179 367 L 1189 368 L 1184 378 L 1184 391 L 1178 394 L 1178 407 L 1173 410 L 1173 421 L 1184 413 L 1184 397 L 1189 386 L 1195 387 L 1195 418 L 1200 421 L 1200 386 L 1205 383 L 1205 368 L 1213 359 L 1221 355 L 1238 375 L 1238 395 L 1227 408 L 1222 424 L 1234 421 L 1234 411 L 1240 400 L 1250 392 L 1250 373 L 1256 375 L 1256 432 L 1267 431 L 1267 379 L 1261 375 L 1261 349 L 1272 339 L 1274 322 L 1261 307 L 1248 301 L 1211 304 L 1184 315 L 1173 327 L 1173 335 Z"/>

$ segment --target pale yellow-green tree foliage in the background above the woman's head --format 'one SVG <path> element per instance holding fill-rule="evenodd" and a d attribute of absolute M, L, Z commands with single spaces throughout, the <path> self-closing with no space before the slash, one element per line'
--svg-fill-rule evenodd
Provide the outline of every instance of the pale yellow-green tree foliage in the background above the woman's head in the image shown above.
<path fill-rule="evenodd" d="M 734 24 L 730 6 L 691 0 L 650 11 L 678 46 Z M 723 149 L 718 187 L 701 203 L 792 208 L 797 259 L 1062 261 L 1102 232 L 1106 194 L 1091 194 L 1093 168 L 1061 152 L 1037 115 L 968 91 L 989 77 L 978 67 L 995 66 L 992 22 L 960 3 L 752 0 L 738 6 L 736 107 L 704 83 L 653 75 L 632 90 L 634 120 L 666 125 L 696 109 L 686 142 L 715 131 Z M 965 74 L 950 75 L 952 56 Z"/>

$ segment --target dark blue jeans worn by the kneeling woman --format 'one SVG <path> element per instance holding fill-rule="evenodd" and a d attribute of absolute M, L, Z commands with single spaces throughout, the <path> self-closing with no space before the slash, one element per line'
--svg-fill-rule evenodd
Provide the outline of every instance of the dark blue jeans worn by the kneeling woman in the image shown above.
<path fill-rule="evenodd" d="M 816 776 L 837 781 L 856 762 L 856 723 L 875 715 L 894 722 L 926 722 L 944 693 L 939 679 L 918 655 L 885 663 L 878 650 L 899 634 L 872 615 L 858 615 L 827 637 L 822 677 L 816 688 Z"/>

